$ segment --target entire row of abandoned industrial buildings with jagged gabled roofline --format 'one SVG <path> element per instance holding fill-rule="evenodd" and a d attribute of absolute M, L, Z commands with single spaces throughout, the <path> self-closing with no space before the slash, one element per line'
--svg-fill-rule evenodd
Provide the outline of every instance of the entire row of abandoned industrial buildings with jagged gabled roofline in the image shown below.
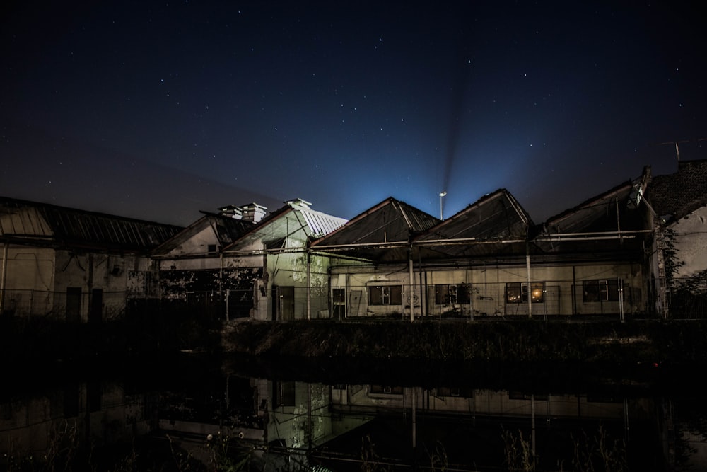
<path fill-rule="evenodd" d="M 149 304 L 224 320 L 666 317 L 676 280 L 707 292 L 706 176 L 706 161 L 656 177 L 646 167 L 543 224 L 506 189 L 444 220 L 392 197 L 350 221 L 293 199 L 269 214 L 255 203 L 202 212 L 187 228 L 3 198 L 0 310 L 72 321 Z"/>

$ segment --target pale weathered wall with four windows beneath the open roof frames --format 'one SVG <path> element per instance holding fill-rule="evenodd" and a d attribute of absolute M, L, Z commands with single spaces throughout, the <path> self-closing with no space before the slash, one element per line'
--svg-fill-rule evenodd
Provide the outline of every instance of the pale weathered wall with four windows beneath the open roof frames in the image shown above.
<path fill-rule="evenodd" d="M 351 273 L 347 273 L 351 272 Z M 619 313 L 619 301 L 585 301 L 583 282 L 590 280 L 612 280 L 621 278 L 624 290 L 624 313 L 641 313 L 645 310 L 643 275 L 638 264 L 584 265 L 532 265 L 531 282 L 542 282 L 542 303 L 532 304 L 532 315 L 556 314 L 602 314 Z M 409 267 L 391 265 L 386 267 L 333 267 L 332 290 L 345 289 L 347 316 L 390 316 L 409 314 L 409 294 L 412 292 L 415 311 L 428 315 L 440 315 L 455 311 L 464 316 L 527 316 L 527 302 L 508 303 L 508 283 L 527 284 L 525 265 L 488 265 L 468 269 L 423 270 L 414 268 L 413 285 L 409 282 Z M 457 289 L 470 290 L 465 303 L 436 303 L 436 287 L 457 285 Z M 402 287 L 402 299 L 397 304 L 372 304 L 370 287 Z M 332 292 L 333 294 L 333 292 Z M 356 301 L 360 297 L 360 304 Z M 460 297 L 461 298 L 461 297 Z M 358 307 L 358 309 L 356 309 Z"/>

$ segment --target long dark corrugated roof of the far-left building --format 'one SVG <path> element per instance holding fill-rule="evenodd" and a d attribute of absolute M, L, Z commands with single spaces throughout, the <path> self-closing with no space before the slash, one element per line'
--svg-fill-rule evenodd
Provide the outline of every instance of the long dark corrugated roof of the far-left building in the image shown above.
<path fill-rule="evenodd" d="M 13 243 L 147 252 L 181 229 L 170 224 L 0 197 L 0 238 Z"/>

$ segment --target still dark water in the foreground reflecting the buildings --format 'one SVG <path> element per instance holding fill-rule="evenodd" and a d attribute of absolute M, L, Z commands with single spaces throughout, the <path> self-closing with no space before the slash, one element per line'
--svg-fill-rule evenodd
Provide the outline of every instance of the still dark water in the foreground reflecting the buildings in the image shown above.
<path fill-rule="evenodd" d="M 658 366 L 59 364 L 4 384 L 0 469 L 705 470 L 698 382 Z"/>

